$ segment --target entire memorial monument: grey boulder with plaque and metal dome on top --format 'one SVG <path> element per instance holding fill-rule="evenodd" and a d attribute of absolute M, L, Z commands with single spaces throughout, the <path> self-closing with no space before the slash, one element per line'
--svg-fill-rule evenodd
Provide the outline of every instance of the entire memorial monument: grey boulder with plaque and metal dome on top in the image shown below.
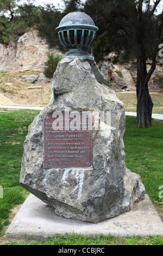
<path fill-rule="evenodd" d="M 145 187 L 125 166 L 123 102 L 86 53 L 98 28 L 74 12 L 57 31 L 69 51 L 54 73 L 49 105 L 28 127 L 20 184 L 54 214 L 98 223 L 132 210 Z"/>

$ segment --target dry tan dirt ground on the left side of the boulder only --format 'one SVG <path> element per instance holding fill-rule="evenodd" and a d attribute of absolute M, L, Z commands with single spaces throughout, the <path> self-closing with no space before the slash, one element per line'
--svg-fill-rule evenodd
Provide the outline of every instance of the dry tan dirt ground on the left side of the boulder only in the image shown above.
<path fill-rule="evenodd" d="M 41 71 L 8 71 L 0 73 L 0 104 L 40 106 L 48 105 L 51 97 L 52 78 L 45 82 L 28 83 L 23 75 L 40 76 Z M 37 87 L 37 88 L 32 88 Z"/>

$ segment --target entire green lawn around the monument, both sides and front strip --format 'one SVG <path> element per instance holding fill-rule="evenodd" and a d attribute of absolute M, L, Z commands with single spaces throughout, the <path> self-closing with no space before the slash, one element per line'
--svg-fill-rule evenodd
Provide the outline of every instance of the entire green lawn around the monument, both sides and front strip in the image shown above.
<path fill-rule="evenodd" d="M 27 128 L 40 111 L 0 109 L 0 240 L 4 227 L 9 224 L 10 209 L 24 202 L 28 192 L 19 184 L 23 143 Z M 159 198 L 159 187 L 163 185 L 162 139 L 163 121 L 154 121 L 150 129 L 137 129 L 136 118 L 126 117 L 124 145 L 126 166 L 141 175 L 146 193 L 163 212 L 163 200 Z M 130 237 L 117 239 L 115 236 L 52 237 L 47 241 L 10 241 L 4 245 L 163 245 L 162 236 Z"/>

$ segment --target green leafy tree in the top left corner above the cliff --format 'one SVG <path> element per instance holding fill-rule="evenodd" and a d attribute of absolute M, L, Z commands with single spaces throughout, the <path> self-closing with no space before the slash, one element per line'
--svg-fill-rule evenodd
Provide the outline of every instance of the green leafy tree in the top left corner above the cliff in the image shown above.
<path fill-rule="evenodd" d="M 0 0 L 0 42 L 15 42 L 27 29 L 39 23 L 40 8 L 33 0 L 20 5 L 20 0 Z"/>

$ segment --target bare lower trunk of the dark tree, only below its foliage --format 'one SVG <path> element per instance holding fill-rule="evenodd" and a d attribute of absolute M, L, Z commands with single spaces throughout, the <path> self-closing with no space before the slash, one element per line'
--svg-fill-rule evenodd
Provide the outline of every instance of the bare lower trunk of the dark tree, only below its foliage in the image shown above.
<path fill-rule="evenodd" d="M 149 95 L 148 81 L 151 77 L 155 67 L 154 62 L 147 74 L 146 60 L 142 54 L 137 57 L 137 127 L 151 127 L 152 126 L 152 108 L 153 101 Z"/>

